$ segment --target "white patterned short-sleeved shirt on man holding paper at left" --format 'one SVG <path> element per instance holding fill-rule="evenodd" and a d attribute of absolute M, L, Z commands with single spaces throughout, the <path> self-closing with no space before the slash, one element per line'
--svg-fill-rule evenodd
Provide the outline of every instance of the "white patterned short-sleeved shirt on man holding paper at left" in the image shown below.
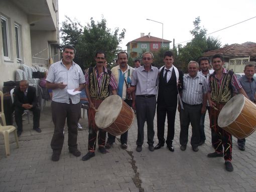
<path fill-rule="evenodd" d="M 76 63 L 72 61 L 72 66 L 69 69 L 62 63 L 62 60 L 52 64 L 49 68 L 46 81 L 67 84 L 65 89 L 53 89 L 53 101 L 69 104 L 70 98 L 73 104 L 79 103 L 79 94 L 69 95 L 67 92 L 68 89 L 76 89 L 79 87 L 79 84 L 85 83 L 82 69 Z"/>

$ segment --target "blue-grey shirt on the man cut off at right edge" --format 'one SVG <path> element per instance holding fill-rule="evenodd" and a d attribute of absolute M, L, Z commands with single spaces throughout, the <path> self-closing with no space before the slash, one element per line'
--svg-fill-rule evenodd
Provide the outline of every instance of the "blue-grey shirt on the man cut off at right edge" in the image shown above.
<path fill-rule="evenodd" d="M 252 77 L 251 82 L 249 82 L 247 77 L 244 75 L 241 78 L 239 78 L 238 81 L 241 84 L 242 88 L 244 89 L 246 95 L 249 97 L 249 99 L 254 102 L 256 99 L 254 98 L 256 92 L 256 80 Z"/>

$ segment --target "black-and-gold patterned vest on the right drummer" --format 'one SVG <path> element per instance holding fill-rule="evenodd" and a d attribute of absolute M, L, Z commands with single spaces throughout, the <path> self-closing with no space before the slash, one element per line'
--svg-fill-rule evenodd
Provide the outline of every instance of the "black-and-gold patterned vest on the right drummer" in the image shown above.
<path fill-rule="evenodd" d="M 218 87 L 217 79 L 212 73 L 209 77 L 211 83 L 211 100 L 216 103 L 226 103 L 232 97 L 232 77 L 233 72 L 229 71 L 228 73 L 223 74 L 223 78 L 220 86 Z"/>

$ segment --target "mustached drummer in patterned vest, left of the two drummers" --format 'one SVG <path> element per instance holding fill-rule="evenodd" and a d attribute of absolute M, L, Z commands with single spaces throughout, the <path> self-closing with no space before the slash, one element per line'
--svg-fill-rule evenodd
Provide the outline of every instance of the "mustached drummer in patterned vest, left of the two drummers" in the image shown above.
<path fill-rule="evenodd" d="M 112 72 L 104 67 L 105 53 L 97 52 L 95 55 L 96 66 L 91 67 L 85 73 L 85 93 L 89 102 L 88 123 L 89 123 L 89 138 L 88 138 L 88 153 L 82 157 L 82 160 L 88 160 L 95 156 L 96 138 L 98 127 L 95 125 L 95 109 L 100 103 L 109 96 L 110 90 L 113 95 L 116 95 L 116 82 Z M 99 129 L 98 146 L 101 153 L 106 153 L 105 149 L 106 132 Z"/>

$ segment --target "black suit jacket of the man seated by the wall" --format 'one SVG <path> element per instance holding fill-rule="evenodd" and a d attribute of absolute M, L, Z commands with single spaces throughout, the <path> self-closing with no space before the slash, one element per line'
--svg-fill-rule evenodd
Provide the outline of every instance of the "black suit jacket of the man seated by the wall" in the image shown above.
<path fill-rule="evenodd" d="M 37 106 L 36 88 L 29 86 L 27 97 L 25 97 L 24 92 L 22 92 L 20 87 L 17 86 L 14 89 L 14 106 L 22 107 L 23 104 L 27 104 L 27 103 L 33 105 L 33 107 Z"/>

